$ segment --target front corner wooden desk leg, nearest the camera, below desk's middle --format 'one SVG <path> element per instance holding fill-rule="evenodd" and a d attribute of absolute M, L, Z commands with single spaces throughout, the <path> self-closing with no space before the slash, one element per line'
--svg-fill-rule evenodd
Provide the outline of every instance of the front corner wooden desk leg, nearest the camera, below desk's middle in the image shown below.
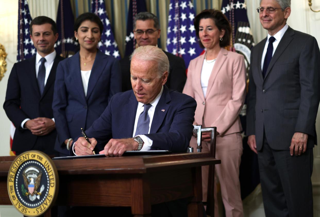
<path fill-rule="evenodd" d="M 150 185 L 146 175 L 131 181 L 131 213 L 134 216 L 151 216 Z"/>

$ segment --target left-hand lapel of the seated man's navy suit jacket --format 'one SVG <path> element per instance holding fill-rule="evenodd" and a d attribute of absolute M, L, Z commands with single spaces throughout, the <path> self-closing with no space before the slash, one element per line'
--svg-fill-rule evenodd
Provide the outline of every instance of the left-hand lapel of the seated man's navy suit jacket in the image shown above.
<path fill-rule="evenodd" d="M 131 97 L 128 100 L 128 103 L 122 107 L 122 114 L 124 116 L 124 120 L 126 123 L 123 125 L 123 129 L 121 129 L 124 133 L 124 138 L 131 138 L 133 135 L 134 122 L 136 119 L 138 101 L 131 91 Z"/>

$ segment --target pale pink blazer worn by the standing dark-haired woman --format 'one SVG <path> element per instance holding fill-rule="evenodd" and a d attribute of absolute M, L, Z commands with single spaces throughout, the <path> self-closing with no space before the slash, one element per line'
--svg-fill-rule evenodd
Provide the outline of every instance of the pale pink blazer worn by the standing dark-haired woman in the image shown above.
<path fill-rule="evenodd" d="M 197 102 L 194 124 L 217 127 L 220 135 L 242 131 L 239 113 L 244 104 L 246 68 L 244 57 L 221 48 L 213 66 L 206 97 L 200 76 L 204 54 L 190 61 L 183 93 Z"/>

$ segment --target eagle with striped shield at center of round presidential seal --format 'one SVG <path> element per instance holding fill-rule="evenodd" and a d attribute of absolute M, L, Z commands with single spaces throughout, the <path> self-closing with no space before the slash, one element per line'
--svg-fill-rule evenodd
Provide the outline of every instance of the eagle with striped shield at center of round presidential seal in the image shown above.
<path fill-rule="evenodd" d="M 42 177 L 41 170 L 36 166 L 29 166 L 23 171 L 22 177 L 24 186 L 28 189 L 25 190 L 22 185 L 22 192 L 25 192 L 24 195 L 29 197 L 31 201 L 34 201 L 36 198 L 40 199 L 41 192 L 44 190 L 44 185 L 42 185 L 40 191 L 38 191 Z"/>

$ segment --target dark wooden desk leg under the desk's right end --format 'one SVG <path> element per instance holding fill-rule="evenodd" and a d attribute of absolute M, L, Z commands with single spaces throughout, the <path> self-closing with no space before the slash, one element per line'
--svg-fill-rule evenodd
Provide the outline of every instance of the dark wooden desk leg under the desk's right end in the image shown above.
<path fill-rule="evenodd" d="M 188 217 L 203 216 L 201 166 L 193 169 L 194 197 L 188 204 Z"/>

